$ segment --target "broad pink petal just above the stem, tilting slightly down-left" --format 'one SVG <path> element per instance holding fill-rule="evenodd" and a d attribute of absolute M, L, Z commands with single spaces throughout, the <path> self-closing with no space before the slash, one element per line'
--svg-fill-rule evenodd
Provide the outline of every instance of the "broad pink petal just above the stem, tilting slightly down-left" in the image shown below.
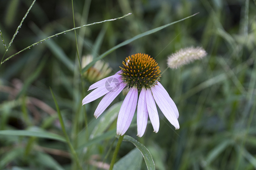
<path fill-rule="evenodd" d="M 129 128 L 136 110 L 137 101 L 138 90 L 136 87 L 132 87 L 127 96 L 124 98 L 123 104 L 118 113 L 116 125 L 117 135 L 124 135 Z"/>

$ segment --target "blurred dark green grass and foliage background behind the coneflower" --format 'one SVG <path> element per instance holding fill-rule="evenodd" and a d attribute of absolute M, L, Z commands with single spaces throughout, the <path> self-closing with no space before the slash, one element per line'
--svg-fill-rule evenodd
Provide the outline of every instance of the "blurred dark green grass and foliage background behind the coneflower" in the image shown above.
<path fill-rule="evenodd" d="M 31 4 L 32 0 L 0 0 L 0 30 L 6 46 Z M 157 134 L 149 123 L 144 136 L 138 138 L 136 115 L 126 134 L 149 149 L 158 170 L 256 169 L 256 1 L 74 0 L 76 27 L 130 12 L 132 15 L 120 20 L 77 29 L 80 58 L 96 58 L 138 34 L 200 13 L 108 54 L 102 60 L 112 70 L 106 77 L 117 72 L 124 58 L 134 53 L 151 55 L 162 71 L 167 68 L 167 56 L 180 48 L 202 46 L 208 55 L 162 74 L 161 83 L 179 110 L 179 130 L 159 110 Z M 71 0 L 38 0 L 4 59 L 71 28 Z M 95 79 L 88 80 L 88 72 L 80 78 L 76 50 L 74 31 L 69 31 L 32 46 L 1 65 L 0 130 L 64 136 L 51 87 L 83 169 L 106 169 L 116 144 L 116 120 L 111 115 L 116 117 L 120 108 L 117 102 L 124 96 L 120 94 L 111 104 L 113 107 L 97 120 L 93 113 L 100 99 L 82 107 L 82 98 Z M 1 56 L 4 53 L 1 44 Z M 100 121 L 104 116 L 109 119 Z M 102 129 L 96 133 L 99 127 Z M 0 134 L 0 169 L 75 169 L 68 145 L 47 135 L 38 138 Z M 100 139 L 88 144 L 97 135 Z M 133 148 L 123 142 L 117 161 Z M 146 169 L 141 153 L 136 154 L 140 166 L 124 165 L 123 169 Z"/>

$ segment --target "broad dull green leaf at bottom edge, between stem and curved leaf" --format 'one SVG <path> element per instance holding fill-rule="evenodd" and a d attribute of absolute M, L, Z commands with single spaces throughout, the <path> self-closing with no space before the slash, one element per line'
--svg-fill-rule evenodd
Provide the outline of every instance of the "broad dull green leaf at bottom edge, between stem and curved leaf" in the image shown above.
<path fill-rule="evenodd" d="M 141 169 L 141 163 L 142 155 L 137 148 L 134 148 L 115 163 L 113 170 L 138 170 Z"/>

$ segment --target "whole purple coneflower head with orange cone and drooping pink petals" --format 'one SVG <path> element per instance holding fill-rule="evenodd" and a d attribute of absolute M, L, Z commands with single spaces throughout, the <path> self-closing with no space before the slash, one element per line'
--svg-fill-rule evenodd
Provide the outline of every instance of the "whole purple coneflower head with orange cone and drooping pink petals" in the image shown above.
<path fill-rule="evenodd" d="M 127 57 L 122 64 L 123 67 L 120 67 L 121 70 L 116 74 L 91 85 L 88 90 L 96 89 L 83 99 L 82 104 L 105 95 L 94 112 L 97 118 L 124 88 L 128 88 L 129 92 L 124 98 L 117 118 L 117 135 L 124 135 L 129 128 L 137 102 L 137 135 L 139 137 L 143 136 L 146 130 L 148 117 L 154 132 L 157 133 L 159 130 L 159 116 L 155 102 L 168 121 L 179 129 L 178 109 L 165 88 L 158 82 L 161 71 L 156 61 L 147 54 L 138 53 Z M 140 93 L 139 98 L 138 93 Z"/>

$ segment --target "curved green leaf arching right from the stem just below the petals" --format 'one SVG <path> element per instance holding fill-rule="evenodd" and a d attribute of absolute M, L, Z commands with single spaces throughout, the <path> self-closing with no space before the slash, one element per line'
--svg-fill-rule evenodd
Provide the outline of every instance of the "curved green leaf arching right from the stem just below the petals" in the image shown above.
<path fill-rule="evenodd" d="M 133 137 L 128 136 L 128 135 L 125 135 L 123 140 L 132 142 L 141 151 L 143 158 L 146 162 L 146 166 L 147 166 L 148 170 L 155 170 L 155 164 L 154 164 L 152 155 L 143 144 L 141 144 L 136 139 L 134 139 Z"/>

